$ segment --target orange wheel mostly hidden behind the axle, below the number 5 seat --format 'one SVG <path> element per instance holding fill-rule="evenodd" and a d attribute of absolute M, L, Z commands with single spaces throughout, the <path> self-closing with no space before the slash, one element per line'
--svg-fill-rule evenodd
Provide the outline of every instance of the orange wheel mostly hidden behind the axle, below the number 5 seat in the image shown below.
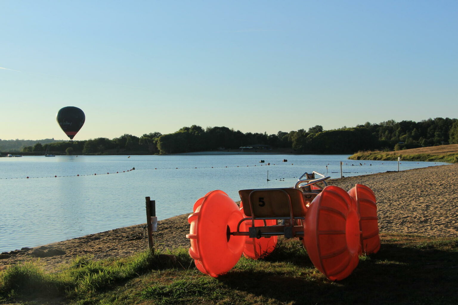
<path fill-rule="evenodd" d="M 243 217 L 246 218 L 247 216 L 243 212 L 243 203 L 240 201 L 240 211 L 243 213 Z M 275 219 L 266 219 L 266 223 L 264 224 L 264 220 L 257 219 L 255 220 L 256 226 L 263 226 L 263 225 L 277 225 L 277 220 Z M 248 228 L 251 227 L 251 219 L 244 221 L 245 227 L 248 231 Z M 261 237 L 261 238 L 250 238 L 250 236 L 245 236 L 245 247 L 243 249 L 243 255 L 248 258 L 252 259 L 259 259 L 267 257 L 270 253 L 272 253 L 273 249 L 277 246 L 278 237 Z"/>

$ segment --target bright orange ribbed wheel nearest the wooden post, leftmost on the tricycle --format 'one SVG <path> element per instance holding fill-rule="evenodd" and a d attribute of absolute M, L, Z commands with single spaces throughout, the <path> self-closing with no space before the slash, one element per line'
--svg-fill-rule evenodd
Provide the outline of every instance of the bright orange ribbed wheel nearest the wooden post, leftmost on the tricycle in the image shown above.
<path fill-rule="evenodd" d="M 191 226 L 186 237 L 191 240 L 189 255 L 197 269 L 216 278 L 234 267 L 245 238 L 229 233 L 237 230 L 242 218 L 237 204 L 223 191 L 212 191 L 196 201 L 188 217 Z"/>

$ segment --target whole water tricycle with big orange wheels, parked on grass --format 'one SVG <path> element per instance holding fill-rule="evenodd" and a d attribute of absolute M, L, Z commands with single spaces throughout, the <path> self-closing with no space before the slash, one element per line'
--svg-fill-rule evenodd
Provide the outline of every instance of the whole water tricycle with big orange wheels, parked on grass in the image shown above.
<path fill-rule="evenodd" d="M 186 235 L 197 269 L 216 278 L 242 254 L 268 256 L 284 235 L 298 237 L 329 280 L 348 277 L 361 254 L 380 249 L 376 198 L 362 184 L 346 192 L 327 185 L 329 178 L 305 172 L 291 188 L 240 190 L 240 207 L 221 190 L 199 198 Z"/>

